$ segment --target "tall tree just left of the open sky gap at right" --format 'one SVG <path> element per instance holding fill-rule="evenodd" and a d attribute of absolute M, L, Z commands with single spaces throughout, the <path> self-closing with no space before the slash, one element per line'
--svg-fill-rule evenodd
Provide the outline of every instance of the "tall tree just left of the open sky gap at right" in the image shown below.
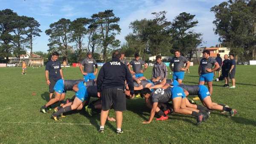
<path fill-rule="evenodd" d="M 182 12 L 172 22 L 173 48 L 180 49 L 189 60 L 196 53 L 196 47 L 202 43 L 202 34 L 191 30 L 198 24 L 194 17 L 195 15 Z"/>

